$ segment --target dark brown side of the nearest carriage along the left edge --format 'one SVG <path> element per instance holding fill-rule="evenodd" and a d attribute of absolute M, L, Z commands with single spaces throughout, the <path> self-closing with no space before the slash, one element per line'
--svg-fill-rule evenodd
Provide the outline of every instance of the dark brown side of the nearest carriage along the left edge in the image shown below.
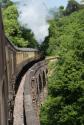
<path fill-rule="evenodd" d="M 0 10 L 0 125 L 8 125 L 7 101 L 8 101 L 8 82 L 5 55 L 5 39 L 3 33 L 2 16 Z"/>

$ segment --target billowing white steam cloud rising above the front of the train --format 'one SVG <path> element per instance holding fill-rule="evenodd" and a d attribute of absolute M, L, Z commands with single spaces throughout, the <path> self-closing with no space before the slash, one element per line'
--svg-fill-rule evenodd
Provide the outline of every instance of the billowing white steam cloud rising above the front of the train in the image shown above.
<path fill-rule="evenodd" d="M 49 35 L 48 9 L 43 0 L 12 0 L 16 3 L 19 12 L 19 22 L 22 26 L 31 29 L 35 39 L 41 44 Z"/>

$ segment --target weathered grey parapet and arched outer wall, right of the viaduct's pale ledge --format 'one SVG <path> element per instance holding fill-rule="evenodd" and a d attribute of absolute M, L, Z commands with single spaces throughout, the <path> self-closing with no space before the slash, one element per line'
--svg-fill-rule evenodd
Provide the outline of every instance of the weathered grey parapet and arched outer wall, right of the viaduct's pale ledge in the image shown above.
<path fill-rule="evenodd" d="M 47 96 L 46 69 L 47 63 L 40 61 L 33 65 L 26 73 L 24 86 L 26 125 L 40 125 L 40 107 L 45 100 L 45 96 Z"/>

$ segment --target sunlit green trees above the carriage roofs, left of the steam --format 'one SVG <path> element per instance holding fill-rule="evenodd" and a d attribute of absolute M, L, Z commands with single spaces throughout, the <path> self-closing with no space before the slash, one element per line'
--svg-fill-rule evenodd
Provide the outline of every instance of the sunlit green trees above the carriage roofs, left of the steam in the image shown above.
<path fill-rule="evenodd" d="M 19 47 L 37 47 L 38 43 L 34 39 L 33 33 L 20 26 L 18 16 L 16 6 L 8 1 L 7 6 L 3 9 L 6 36 Z"/>

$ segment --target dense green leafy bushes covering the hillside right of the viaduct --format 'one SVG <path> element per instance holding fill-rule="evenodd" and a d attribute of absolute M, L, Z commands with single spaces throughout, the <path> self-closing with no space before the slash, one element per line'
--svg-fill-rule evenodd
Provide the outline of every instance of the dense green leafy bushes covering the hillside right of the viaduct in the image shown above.
<path fill-rule="evenodd" d="M 52 63 L 49 96 L 41 108 L 41 125 L 84 125 L 84 9 L 50 22 L 43 43 Z"/>

